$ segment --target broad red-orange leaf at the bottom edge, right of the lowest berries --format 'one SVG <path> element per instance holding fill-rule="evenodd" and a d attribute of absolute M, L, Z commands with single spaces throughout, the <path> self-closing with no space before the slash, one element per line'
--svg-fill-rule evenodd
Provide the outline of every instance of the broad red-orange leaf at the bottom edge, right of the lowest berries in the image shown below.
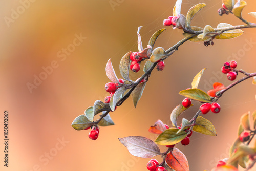
<path fill-rule="evenodd" d="M 174 148 L 172 152 L 168 153 L 165 161 L 174 170 L 189 171 L 187 158 L 178 148 Z"/>

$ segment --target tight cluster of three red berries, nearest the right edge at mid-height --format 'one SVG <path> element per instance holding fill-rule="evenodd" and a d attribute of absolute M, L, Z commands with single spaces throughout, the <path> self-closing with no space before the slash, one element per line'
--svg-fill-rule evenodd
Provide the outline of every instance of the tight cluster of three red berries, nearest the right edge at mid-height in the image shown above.
<path fill-rule="evenodd" d="M 222 73 L 227 74 L 227 79 L 233 81 L 237 78 L 238 73 L 233 71 L 237 67 L 237 62 L 232 60 L 230 62 L 225 62 L 221 68 Z"/>

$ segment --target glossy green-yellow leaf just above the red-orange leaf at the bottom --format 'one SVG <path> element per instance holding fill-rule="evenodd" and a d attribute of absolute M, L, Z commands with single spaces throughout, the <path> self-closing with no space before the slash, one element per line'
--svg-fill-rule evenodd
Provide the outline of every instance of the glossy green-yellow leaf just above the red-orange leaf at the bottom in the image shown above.
<path fill-rule="evenodd" d="M 162 132 L 157 139 L 155 140 L 155 143 L 158 145 L 174 145 L 186 138 L 187 133 L 185 131 L 181 131 L 177 134 L 177 132 L 180 129 L 176 128 L 170 128 Z"/>

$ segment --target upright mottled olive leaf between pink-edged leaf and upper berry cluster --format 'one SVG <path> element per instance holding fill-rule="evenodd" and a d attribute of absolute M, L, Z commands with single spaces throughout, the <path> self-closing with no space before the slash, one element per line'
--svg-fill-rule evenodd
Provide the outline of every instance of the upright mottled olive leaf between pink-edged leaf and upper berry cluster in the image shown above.
<path fill-rule="evenodd" d="M 120 73 L 122 75 L 122 77 L 126 80 L 130 80 L 129 78 L 129 64 L 130 64 L 130 55 L 131 55 L 132 51 L 126 53 L 121 61 L 120 61 L 120 65 L 119 65 L 119 70 Z"/>

